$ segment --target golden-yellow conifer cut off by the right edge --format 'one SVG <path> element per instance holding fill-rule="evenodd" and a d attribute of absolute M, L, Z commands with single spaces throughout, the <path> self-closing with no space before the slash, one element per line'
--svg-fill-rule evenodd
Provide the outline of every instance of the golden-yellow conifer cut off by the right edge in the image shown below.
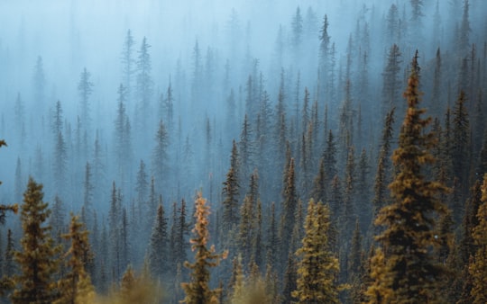
<path fill-rule="evenodd" d="M 487 174 L 483 176 L 482 205 L 477 211 L 479 224 L 473 228 L 473 241 L 477 251 L 468 271 L 473 279 L 470 291 L 474 304 L 487 303 Z"/>

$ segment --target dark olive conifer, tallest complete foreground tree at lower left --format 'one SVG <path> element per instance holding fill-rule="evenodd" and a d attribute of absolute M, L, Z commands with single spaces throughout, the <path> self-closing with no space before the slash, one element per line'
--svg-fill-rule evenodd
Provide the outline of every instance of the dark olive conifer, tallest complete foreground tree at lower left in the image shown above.
<path fill-rule="evenodd" d="M 13 303 L 51 303 L 58 299 L 59 292 L 53 280 L 58 269 L 54 256 L 59 247 L 54 246 L 49 236 L 51 227 L 45 224 L 51 214 L 48 203 L 42 201 L 42 185 L 32 177 L 23 193 L 21 222 L 23 238 L 22 249 L 15 252 L 20 274 L 15 276 Z"/>

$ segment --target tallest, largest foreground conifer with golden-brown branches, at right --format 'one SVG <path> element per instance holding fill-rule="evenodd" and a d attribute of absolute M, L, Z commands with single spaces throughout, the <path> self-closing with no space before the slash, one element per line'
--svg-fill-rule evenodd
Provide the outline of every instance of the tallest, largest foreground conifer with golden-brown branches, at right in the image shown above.
<path fill-rule="evenodd" d="M 445 273 L 437 262 L 436 217 L 445 205 L 437 199 L 445 187 L 424 176 L 427 165 L 435 159 L 429 149 L 436 142 L 427 131 L 430 118 L 423 119 L 419 109 L 420 93 L 418 52 L 411 64 L 411 74 L 404 97 L 408 102 L 400 130 L 399 147 L 392 161 L 397 168 L 391 189 L 393 202 L 383 207 L 375 225 L 384 230 L 376 240 L 381 244 L 372 257 L 372 286 L 367 291 L 371 303 L 441 302 L 439 282 Z"/>

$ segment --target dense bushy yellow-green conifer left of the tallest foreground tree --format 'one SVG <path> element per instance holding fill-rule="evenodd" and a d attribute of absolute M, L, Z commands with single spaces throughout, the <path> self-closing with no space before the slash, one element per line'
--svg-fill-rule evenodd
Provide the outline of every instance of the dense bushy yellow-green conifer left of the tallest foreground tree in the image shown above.
<path fill-rule="evenodd" d="M 305 237 L 296 252 L 298 264 L 297 290 L 292 296 L 298 303 L 338 303 L 339 288 L 335 278 L 339 271 L 338 259 L 328 245 L 330 209 L 321 201 L 308 202 Z"/>

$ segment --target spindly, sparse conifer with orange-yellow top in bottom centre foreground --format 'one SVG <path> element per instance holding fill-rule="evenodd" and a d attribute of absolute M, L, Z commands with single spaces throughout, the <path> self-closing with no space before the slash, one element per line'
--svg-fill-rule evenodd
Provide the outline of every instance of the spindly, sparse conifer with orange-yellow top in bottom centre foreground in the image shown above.
<path fill-rule="evenodd" d="M 195 202 L 195 228 L 193 233 L 195 237 L 191 238 L 191 249 L 195 254 L 195 263 L 185 263 L 185 266 L 191 270 L 190 282 L 181 284 L 186 298 L 182 301 L 188 304 L 209 304 L 218 303 L 221 290 L 211 290 L 209 286 L 211 267 L 216 267 L 220 259 L 226 257 L 226 252 L 223 254 L 216 254 L 215 246 L 207 247 L 209 238 L 208 232 L 208 216 L 210 214 L 207 200 L 198 193 L 198 198 Z"/>

